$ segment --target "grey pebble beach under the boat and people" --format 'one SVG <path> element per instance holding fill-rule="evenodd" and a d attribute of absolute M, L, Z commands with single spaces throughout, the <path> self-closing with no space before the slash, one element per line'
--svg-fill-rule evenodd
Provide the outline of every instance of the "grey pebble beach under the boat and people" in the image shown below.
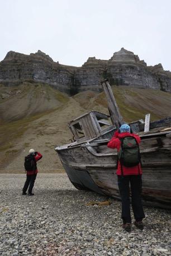
<path fill-rule="evenodd" d="M 0 174 L 0 255 L 171 255 L 170 212 L 145 208 L 145 229 L 122 230 L 120 202 L 78 191 L 67 175 L 38 174 L 35 196 L 24 174 Z"/>

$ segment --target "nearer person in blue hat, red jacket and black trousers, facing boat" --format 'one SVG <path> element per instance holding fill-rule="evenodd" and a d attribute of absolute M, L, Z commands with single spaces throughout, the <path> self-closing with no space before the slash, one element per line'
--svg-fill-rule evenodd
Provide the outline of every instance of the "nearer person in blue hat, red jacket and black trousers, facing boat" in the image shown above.
<path fill-rule="evenodd" d="M 117 149 L 119 152 L 121 149 L 121 139 L 126 136 L 132 136 L 136 139 L 136 142 L 139 144 L 141 139 L 136 134 L 130 133 L 129 125 L 122 125 L 120 127 L 120 133 L 115 132 L 113 138 L 108 142 L 108 148 Z M 143 218 L 144 210 L 141 201 L 141 189 L 142 189 L 142 169 L 141 164 L 137 164 L 134 167 L 126 167 L 121 165 L 120 160 L 117 164 L 117 178 L 118 178 L 118 188 L 120 191 L 121 202 L 122 202 L 122 221 L 123 228 L 126 231 L 131 231 L 131 212 L 130 212 L 130 189 L 129 183 L 131 184 L 131 195 L 132 195 L 132 210 L 134 212 L 135 222 L 134 224 L 139 228 L 143 229 Z"/>

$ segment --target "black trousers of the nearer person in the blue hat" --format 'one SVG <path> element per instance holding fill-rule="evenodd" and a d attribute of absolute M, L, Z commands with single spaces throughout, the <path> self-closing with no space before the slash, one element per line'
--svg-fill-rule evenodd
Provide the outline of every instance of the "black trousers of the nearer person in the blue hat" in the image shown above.
<path fill-rule="evenodd" d="M 131 184 L 131 195 L 132 195 L 132 211 L 134 212 L 134 218 L 136 221 L 141 221 L 145 215 L 143 205 L 141 201 L 141 189 L 142 179 L 141 175 L 127 175 L 117 176 L 118 188 L 120 190 L 120 196 L 122 201 L 122 220 L 124 224 L 131 223 L 131 212 L 130 212 L 130 188 Z"/>

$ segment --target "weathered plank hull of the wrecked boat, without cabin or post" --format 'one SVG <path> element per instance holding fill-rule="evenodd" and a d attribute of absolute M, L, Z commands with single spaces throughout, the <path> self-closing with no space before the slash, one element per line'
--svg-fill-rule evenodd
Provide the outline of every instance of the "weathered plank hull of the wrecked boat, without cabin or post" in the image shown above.
<path fill-rule="evenodd" d="M 78 189 L 90 189 L 120 199 L 117 186 L 117 152 L 101 146 L 80 144 L 56 149 L 70 181 Z M 171 209 L 171 137 L 156 134 L 142 137 L 142 198 L 146 205 Z M 130 195 L 131 196 L 131 195 Z"/>

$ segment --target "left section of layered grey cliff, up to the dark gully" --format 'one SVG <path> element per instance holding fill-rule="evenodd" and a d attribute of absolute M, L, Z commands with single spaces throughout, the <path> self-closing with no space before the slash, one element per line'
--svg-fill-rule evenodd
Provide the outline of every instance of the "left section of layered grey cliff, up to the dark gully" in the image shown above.
<path fill-rule="evenodd" d="M 10 51 L 0 63 L 0 82 L 7 85 L 23 80 L 43 82 L 69 94 L 73 72 L 73 67 L 55 63 L 40 50 L 30 55 Z"/>

